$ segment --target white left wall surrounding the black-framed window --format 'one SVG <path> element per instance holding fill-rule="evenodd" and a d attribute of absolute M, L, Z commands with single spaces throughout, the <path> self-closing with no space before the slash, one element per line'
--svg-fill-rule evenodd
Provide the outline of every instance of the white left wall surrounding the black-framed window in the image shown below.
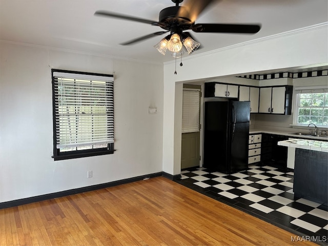
<path fill-rule="evenodd" d="M 0 51 L 0 202 L 162 171 L 162 65 L 5 43 Z M 114 154 L 51 158 L 51 68 L 114 72 Z"/>

